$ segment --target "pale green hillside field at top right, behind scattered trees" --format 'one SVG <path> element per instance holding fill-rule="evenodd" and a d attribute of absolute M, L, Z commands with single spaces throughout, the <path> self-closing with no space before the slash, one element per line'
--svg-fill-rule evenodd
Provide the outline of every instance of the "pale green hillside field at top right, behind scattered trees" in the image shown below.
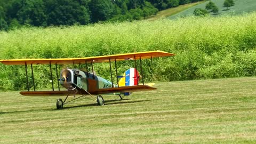
<path fill-rule="evenodd" d="M 234 0 L 235 5 L 232 7 L 229 7 L 230 10 L 226 11 L 226 7 L 223 7 L 223 3 L 225 0 L 211 0 L 217 7 L 219 8 L 219 14 L 243 14 L 243 13 L 249 13 L 252 11 L 256 11 L 256 1 L 255 0 Z M 195 5 L 193 7 L 189 7 L 189 9 L 186 9 L 182 12 L 179 12 L 177 14 L 171 15 L 168 17 L 169 19 L 179 18 L 179 17 L 186 17 L 189 15 L 193 15 L 193 12 L 196 8 L 205 9 L 205 5 L 209 3 L 210 1 L 206 1 L 202 4 Z"/>

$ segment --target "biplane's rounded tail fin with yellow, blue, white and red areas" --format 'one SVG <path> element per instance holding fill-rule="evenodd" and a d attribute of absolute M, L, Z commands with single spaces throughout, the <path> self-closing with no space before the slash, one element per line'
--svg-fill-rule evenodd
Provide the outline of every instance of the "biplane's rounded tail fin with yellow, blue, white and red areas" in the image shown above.
<path fill-rule="evenodd" d="M 135 68 L 130 68 L 125 71 L 122 78 L 118 82 L 119 86 L 133 86 L 133 85 L 139 85 L 139 72 Z M 124 95 L 130 95 L 130 92 L 125 92 Z"/>

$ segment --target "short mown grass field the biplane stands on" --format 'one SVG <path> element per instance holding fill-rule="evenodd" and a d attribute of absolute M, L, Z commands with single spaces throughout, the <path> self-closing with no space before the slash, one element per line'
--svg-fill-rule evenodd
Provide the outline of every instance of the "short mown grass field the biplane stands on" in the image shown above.
<path fill-rule="evenodd" d="M 106 105 L 0 93 L 0 143 L 253 143 L 256 77 L 165 82 Z M 113 100 L 114 99 L 114 100 Z"/>

